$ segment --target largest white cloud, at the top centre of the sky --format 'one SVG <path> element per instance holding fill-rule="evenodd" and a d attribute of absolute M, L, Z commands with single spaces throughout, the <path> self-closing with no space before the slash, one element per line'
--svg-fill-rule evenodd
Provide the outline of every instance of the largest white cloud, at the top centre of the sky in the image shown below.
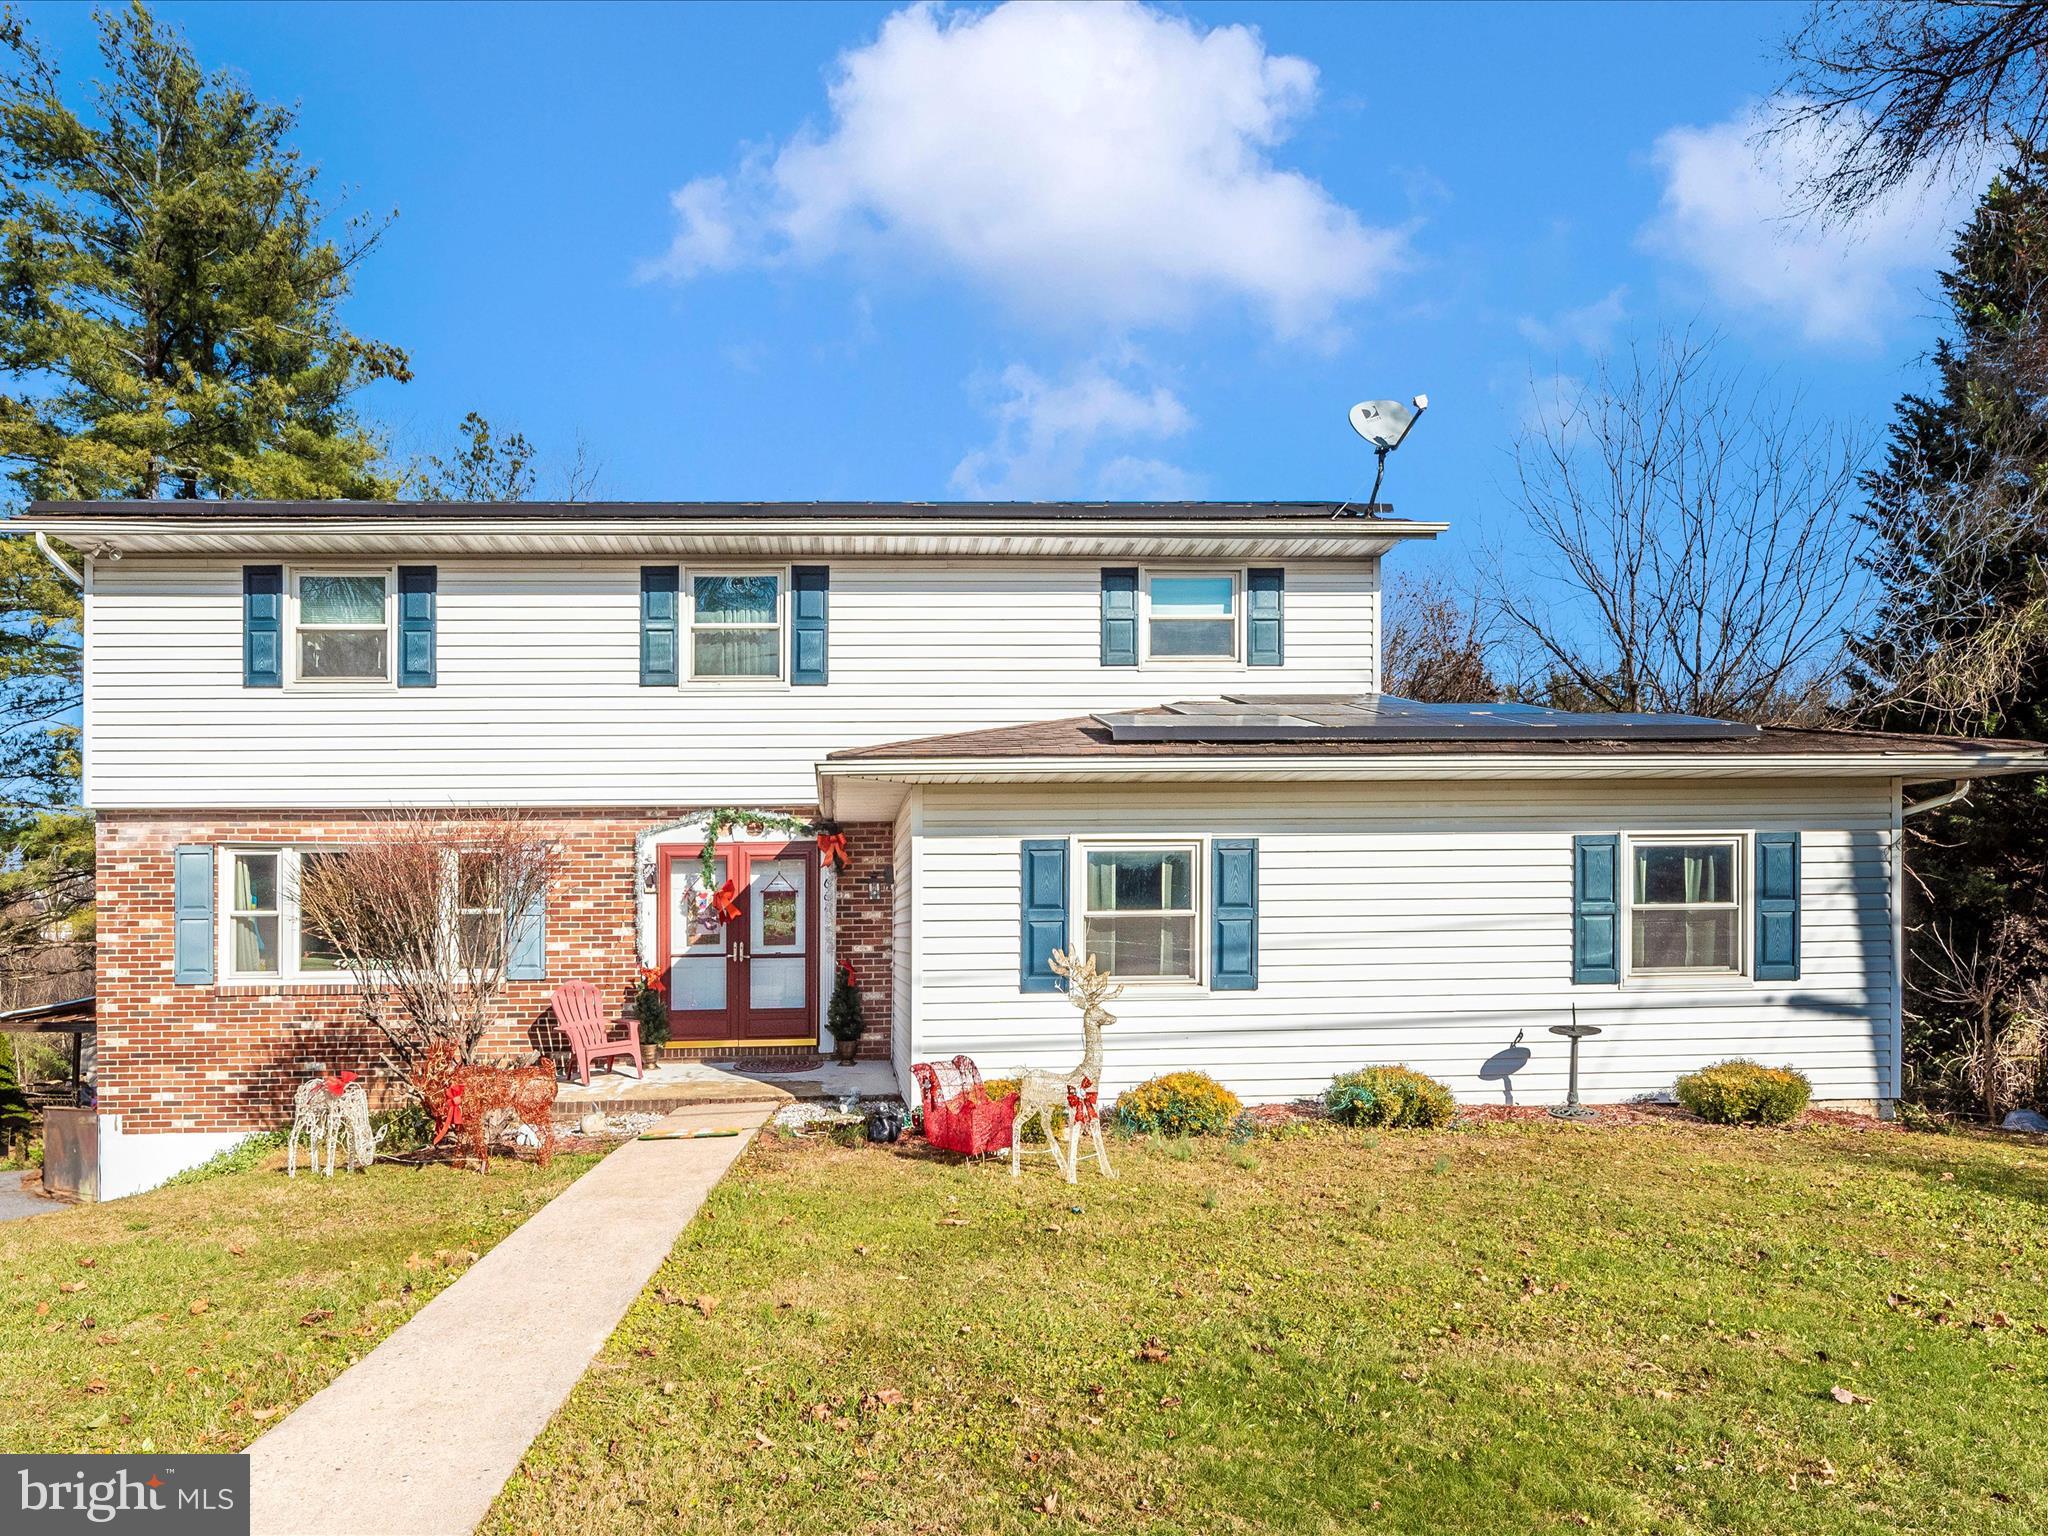
<path fill-rule="evenodd" d="M 840 57 L 825 131 L 674 195 L 676 238 L 649 270 L 868 254 L 1067 322 L 1178 322 L 1239 299 L 1309 332 L 1407 244 L 1272 162 L 1315 90 L 1315 66 L 1249 27 L 1133 0 L 913 4 Z"/>

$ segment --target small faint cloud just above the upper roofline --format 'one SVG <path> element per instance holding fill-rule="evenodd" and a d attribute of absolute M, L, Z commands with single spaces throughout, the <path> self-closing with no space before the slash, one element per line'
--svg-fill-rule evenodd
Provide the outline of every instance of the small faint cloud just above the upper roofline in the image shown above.
<path fill-rule="evenodd" d="M 1116 453 L 1133 440 L 1159 442 L 1194 426 L 1165 385 L 1118 379 L 1102 362 L 1049 381 L 1022 362 L 1001 375 L 1001 397 L 989 410 L 993 440 L 969 453 L 952 471 L 961 496 L 1044 500 L 1104 496 L 1171 500 L 1192 496 L 1196 477 L 1163 459 Z"/>

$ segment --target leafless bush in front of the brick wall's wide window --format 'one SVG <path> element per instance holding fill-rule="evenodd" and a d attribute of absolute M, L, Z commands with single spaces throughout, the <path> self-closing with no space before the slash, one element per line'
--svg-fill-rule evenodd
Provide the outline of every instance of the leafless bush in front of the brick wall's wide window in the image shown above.
<path fill-rule="evenodd" d="M 551 862 L 516 811 L 389 811 L 362 842 L 301 856 L 305 928 L 348 969 L 406 1081 L 436 1042 L 473 1057 Z"/>

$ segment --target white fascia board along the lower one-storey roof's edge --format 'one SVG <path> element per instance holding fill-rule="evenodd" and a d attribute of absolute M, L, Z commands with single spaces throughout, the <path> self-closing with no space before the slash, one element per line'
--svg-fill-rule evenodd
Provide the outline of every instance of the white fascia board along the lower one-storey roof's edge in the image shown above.
<path fill-rule="evenodd" d="M 1411 756 L 1411 758 L 895 758 L 821 762 L 827 782 L 899 784 L 1100 784 L 1100 782 L 1372 782 L 1391 778 L 1896 778 L 1925 784 L 2048 772 L 2048 752 L 1987 752 L 1972 758 L 1870 754 L 1784 756 Z"/>

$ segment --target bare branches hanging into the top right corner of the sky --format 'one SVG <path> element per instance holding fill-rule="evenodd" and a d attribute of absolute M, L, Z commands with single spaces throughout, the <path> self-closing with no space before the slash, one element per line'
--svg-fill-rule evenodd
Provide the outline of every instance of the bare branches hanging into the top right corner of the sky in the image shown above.
<path fill-rule="evenodd" d="M 1829 217 L 2048 137 L 2048 0 L 1817 0 L 1786 53 L 1769 131 L 1821 131 L 1806 190 Z"/>

